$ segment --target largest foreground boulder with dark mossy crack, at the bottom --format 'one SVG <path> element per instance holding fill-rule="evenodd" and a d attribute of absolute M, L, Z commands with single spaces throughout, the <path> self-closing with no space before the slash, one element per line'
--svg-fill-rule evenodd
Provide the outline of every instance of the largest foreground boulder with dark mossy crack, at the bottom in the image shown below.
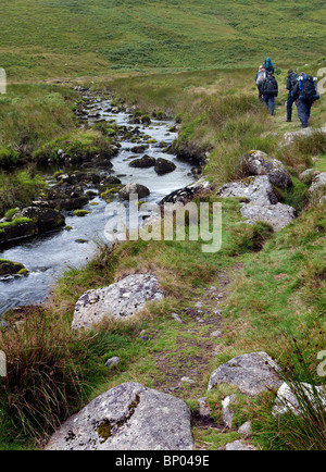
<path fill-rule="evenodd" d="M 190 411 L 171 395 L 122 384 L 54 433 L 48 450 L 192 450 Z"/>

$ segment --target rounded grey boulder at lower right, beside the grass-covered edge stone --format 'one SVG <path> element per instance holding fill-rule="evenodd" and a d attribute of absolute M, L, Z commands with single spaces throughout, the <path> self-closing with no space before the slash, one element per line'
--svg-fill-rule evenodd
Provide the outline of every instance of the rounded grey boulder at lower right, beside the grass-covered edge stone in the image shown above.
<path fill-rule="evenodd" d="M 281 381 L 276 374 L 277 365 L 266 352 L 252 352 L 236 357 L 216 369 L 209 382 L 209 390 L 220 384 L 229 384 L 250 397 L 277 389 Z"/>

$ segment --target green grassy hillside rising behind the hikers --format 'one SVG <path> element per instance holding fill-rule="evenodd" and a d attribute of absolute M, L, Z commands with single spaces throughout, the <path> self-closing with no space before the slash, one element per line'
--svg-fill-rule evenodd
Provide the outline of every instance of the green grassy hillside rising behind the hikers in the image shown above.
<path fill-rule="evenodd" d="M 326 55 L 323 0 L 2 0 L 12 78 L 304 63 Z"/>

